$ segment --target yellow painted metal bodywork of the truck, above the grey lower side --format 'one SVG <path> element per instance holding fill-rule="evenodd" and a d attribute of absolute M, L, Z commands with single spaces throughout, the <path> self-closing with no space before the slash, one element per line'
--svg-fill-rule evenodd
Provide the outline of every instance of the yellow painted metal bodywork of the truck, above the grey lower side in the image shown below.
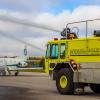
<path fill-rule="evenodd" d="M 49 44 L 58 44 L 59 50 L 58 59 L 48 59 L 48 63 L 45 64 L 46 72 L 53 70 L 50 68 L 50 63 L 67 62 L 69 59 L 80 62 L 100 62 L 100 37 L 81 38 L 73 40 L 56 40 L 49 41 Z M 66 44 L 66 56 L 65 59 L 60 59 L 60 44 Z"/>

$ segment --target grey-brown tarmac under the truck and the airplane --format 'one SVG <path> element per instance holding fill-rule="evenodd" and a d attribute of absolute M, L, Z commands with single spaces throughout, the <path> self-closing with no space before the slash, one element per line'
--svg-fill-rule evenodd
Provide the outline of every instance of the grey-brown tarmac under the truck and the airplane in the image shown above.
<path fill-rule="evenodd" d="M 82 95 L 61 95 L 45 73 L 21 72 L 0 77 L 0 100 L 100 100 L 100 94 L 87 87 Z"/>

